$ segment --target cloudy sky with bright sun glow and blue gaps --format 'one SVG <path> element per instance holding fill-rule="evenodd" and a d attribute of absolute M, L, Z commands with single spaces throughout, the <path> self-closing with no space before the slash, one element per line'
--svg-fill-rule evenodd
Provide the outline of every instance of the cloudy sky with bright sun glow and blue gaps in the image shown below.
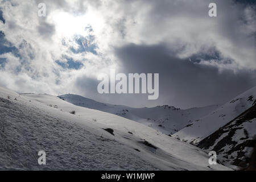
<path fill-rule="evenodd" d="M 255 10 L 241 0 L 0 0 L 0 86 L 131 107 L 223 104 L 256 86 Z M 110 69 L 159 73 L 159 98 L 99 94 Z"/>

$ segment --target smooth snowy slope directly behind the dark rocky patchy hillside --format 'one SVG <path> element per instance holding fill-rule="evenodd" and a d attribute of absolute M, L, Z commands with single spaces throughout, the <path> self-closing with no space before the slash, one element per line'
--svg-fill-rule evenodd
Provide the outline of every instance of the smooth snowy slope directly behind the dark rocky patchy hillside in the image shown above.
<path fill-rule="evenodd" d="M 232 121 L 232 119 L 243 113 L 243 111 L 253 106 L 256 102 L 255 100 L 256 87 L 247 90 L 232 101 L 218 107 L 218 109 L 206 117 L 191 123 L 191 125 L 175 133 L 172 137 L 197 144 L 214 133 L 214 131 L 220 129 L 220 127 L 226 125 L 226 123 Z"/>

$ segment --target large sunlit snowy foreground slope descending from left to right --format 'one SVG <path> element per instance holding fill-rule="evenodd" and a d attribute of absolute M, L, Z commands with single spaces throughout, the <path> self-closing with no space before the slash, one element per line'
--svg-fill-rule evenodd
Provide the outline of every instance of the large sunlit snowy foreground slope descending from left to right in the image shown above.
<path fill-rule="evenodd" d="M 47 94 L 0 88 L 0 116 L 0 169 L 230 169 L 209 166 L 200 148 L 151 127 Z M 46 165 L 38 164 L 39 150 Z"/>

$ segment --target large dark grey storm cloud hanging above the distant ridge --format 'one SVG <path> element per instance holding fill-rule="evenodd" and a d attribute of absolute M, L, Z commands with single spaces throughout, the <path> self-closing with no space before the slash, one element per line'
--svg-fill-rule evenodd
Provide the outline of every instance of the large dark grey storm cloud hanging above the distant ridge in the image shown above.
<path fill-rule="evenodd" d="M 124 73 L 159 73 L 159 100 L 180 107 L 224 103 L 255 86 L 255 71 L 238 71 L 179 59 L 164 44 L 116 49 Z M 139 101 L 139 100 L 137 100 Z M 140 100 L 141 102 L 147 102 Z"/>

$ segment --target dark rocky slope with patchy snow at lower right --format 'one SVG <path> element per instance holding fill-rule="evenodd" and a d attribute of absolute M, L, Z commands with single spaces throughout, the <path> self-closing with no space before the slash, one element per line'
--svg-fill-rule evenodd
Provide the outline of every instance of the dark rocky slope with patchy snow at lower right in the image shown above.
<path fill-rule="evenodd" d="M 256 144 L 256 104 L 197 144 L 225 163 L 247 167 Z M 255 163 L 255 162 L 254 162 Z"/>

